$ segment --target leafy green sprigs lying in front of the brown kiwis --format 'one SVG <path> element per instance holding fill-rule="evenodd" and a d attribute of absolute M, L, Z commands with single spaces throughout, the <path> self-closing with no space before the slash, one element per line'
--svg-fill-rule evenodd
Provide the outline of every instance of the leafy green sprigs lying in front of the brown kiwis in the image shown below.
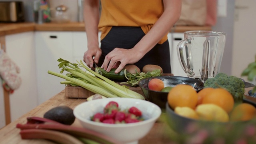
<path fill-rule="evenodd" d="M 138 73 L 137 71 L 136 71 L 136 74 L 125 73 L 125 76 L 128 79 L 126 83 L 130 84 L 130 86 L 137 86 L 140 80 L 144 78 L 154 77 L 154 76 L 161 76 L 161 74 L 162 72 L 160 69 L 156 69 L 147 73 L 144 73 L 144 72 Z"/>

